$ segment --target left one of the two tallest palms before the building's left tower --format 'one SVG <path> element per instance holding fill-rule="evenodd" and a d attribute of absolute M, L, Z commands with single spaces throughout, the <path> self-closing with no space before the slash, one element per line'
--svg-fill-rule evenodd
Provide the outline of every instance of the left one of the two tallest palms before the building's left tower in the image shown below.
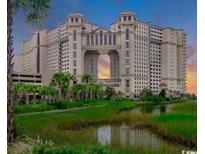
<path fill-rule="evenodd" d="M 51 85 L 57 85 L 58 88 L 58 98 L 62 99 L 62 89 L 64 86 L 65 75 L 63 72 L 57 72 L 53 75 Z"/>

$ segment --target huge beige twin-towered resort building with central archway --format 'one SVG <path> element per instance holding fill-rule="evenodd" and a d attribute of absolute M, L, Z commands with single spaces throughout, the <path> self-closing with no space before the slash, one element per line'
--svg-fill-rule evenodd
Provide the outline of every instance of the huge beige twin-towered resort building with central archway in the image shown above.
<path fill-rule="evenodd" d="M 99 79 L 98 57 L 110 58 L 110 78 Z M 36 31 L 21 42 L 18 71 L 41 75 L 48 85 L 57 71 L 70 72 L 78 82 L 90 74 L 104 86 L 138 97 L 145 87 L 186 91 L 186 34 L 183 29 L 160 27 L 122 12 L 110 29 L 92 24 L 78 13 L 70 14 L 54 29 Z M 20 76 L 20 75 L 19 75 Z M 20 79 L 18 79 L 20 80 Z"/>

